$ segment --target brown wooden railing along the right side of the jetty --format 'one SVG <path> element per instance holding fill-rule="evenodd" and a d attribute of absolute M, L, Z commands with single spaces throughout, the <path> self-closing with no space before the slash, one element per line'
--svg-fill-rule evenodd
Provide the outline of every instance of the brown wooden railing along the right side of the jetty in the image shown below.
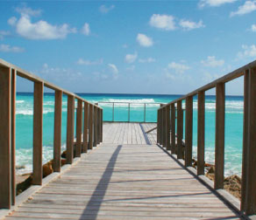
<path fill-rule="evenodd" d="M 184 100 L 186 103 L 184 160 L 186 167 L 192 166 L 193 97 L 197 95 L 197 175 L 204 175 L 205 92 L 216 88 L 214 188 L 224 189 L 225 83 L 242 76 L 244 77 L 244 130 L 240 210 L 246 215 L 252 215 L 256 214 L 256 61 L 160 107 L 158 109 L 157 142 L 167 150 L 171 150 L 172 154 L 176 154 L 177 159 L 183 158 L 181 105 Z M 176 111 L 177 126 L 175 126 Z M 177 135 L 176 145 L 175 134 Z"/>

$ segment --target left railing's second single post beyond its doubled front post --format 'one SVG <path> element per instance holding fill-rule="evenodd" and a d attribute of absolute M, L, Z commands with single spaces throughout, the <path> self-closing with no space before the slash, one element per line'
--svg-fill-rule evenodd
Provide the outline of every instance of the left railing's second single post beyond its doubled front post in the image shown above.
<path fill-rule="evenodd" d="M 60 172 L 61 167 L 61 119 L 62 91 L 55 91 L 54 103 L 54 141 L 53 141 L 53 171 Z"/>

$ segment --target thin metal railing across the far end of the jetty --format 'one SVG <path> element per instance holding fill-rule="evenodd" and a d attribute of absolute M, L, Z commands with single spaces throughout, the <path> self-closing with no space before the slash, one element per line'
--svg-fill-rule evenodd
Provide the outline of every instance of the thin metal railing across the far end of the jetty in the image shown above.
<path fill-rule="evenodd" d="M 103 107 L 103 109 L 105 110 L 104 113 L 107 117 L 107 108 L 111 108 L 111 118 L 110 119 L 106 119 L 104 121 L 121 121 L 121 122 L 156 122 L 157 121 L 157 107 L 160 107 L 160 105 L 162 105 L 161 103 L 158 103 L 158 102 L 146 102 L 146 103 L 139 103 L 139 102 L 107 102 L 107 101 L 99 101 L 97 103 L 98 106 L 101 106 Z M 135 120 L 132 119 L 132 116 L 131 116 L 131 112 L 135 112 L 135 110 L 131 110 L 132 107 L 136 107 L 138 108 L 138 106 L 141 108 L 139 113 L 140 114 L 141 112 L 143 112 L 143 119 L 142 120 L 139 120 L 141 117 L 141 115 L 137 115 L 137 116 L 133 116 L 133 118 L 135 118 Z M 155 120 L 152 120 L 152 121 L 148 121 L 146 120 L 146 110 L 148 108 L 148 106 L 151 106 L 151 107 L 154 107 L 155 109 L 151 109 L 151 111 L 153 113 L 155 113 Z M 115 119 L 115 109 L 116 110 L 120 110 L 120 111 L 123 111 L 123 112 L 126 112 L 127 111 L 127 114 L 125 117 L 125 114 L 123 114 L 123 118 L 122 119 L 119 119 L 119 120 L 116 120 Z M 124 117 L 127 119 L 124 119 Z"/>

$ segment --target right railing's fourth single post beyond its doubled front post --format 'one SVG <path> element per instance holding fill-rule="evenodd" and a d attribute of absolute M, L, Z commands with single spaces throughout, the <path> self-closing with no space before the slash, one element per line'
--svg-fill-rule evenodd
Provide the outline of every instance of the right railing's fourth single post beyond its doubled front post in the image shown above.
<path fill-rule="evenodd" d="M 182 110 L 182 101 L 177 101 L 177 158 L 183 159 L 183 110 Z"/>

